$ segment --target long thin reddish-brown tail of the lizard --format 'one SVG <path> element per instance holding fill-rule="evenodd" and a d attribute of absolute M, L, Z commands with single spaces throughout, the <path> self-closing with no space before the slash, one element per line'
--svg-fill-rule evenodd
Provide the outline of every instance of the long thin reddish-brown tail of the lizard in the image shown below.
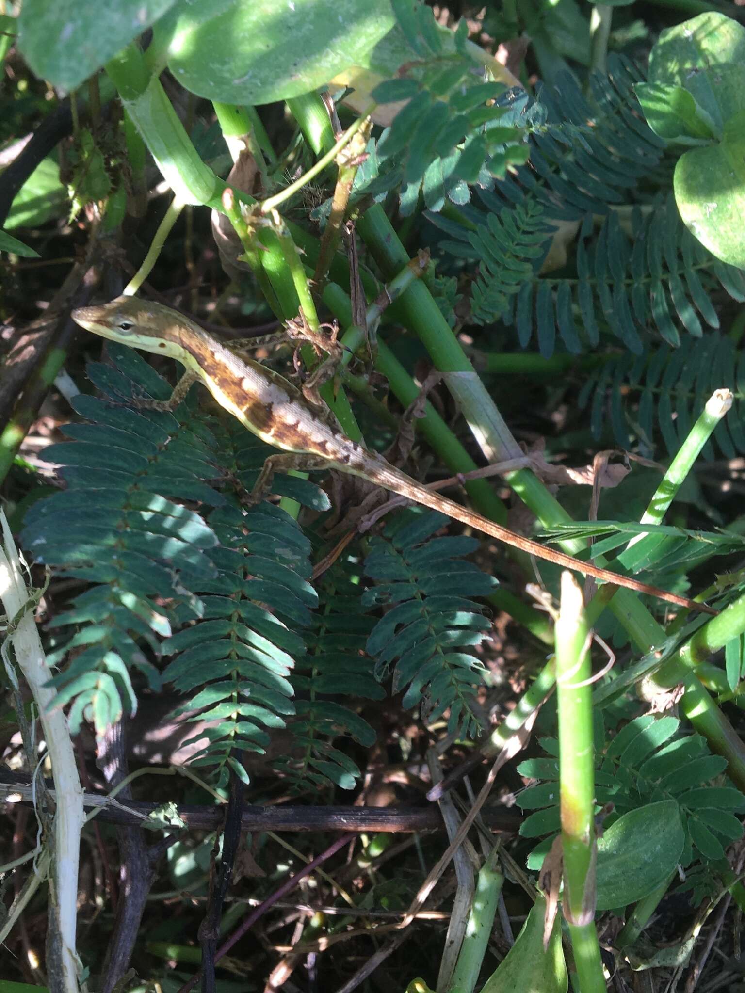
<path fill-rule="evenodd" d="M 661 590 L 657 586 L 648 586 L 647 583 L 642 583 L 638 579 L 633 579 L 631 576 L 620 576 L 618 573 L 611 572 L 610 569 L 602 569 L 600 566 L 593 565 L 592 562 L 583 562 L 557 549 L 546 548 L 545 545 L 541 545 L 531 538 L 526 538 L 522 534 L 503 527 L 501 524 L 495 524 L 494 521 L 489 520 L 487 517 L 482 517 L 480 513 L 475 513 L 465 506 L 461 506 L 460 503 L 456 503 L 454 500 L 442 497 L 440 494 L 433 493 L 431 490 L 419 486 L 418 483 L 409 476 L 406 476 L 405 473 L 401 473 L 387 463 L 378 464 L 375 475 L 377 479 L 374 482 L 378 486 L 383 486 L 386 490 L 390 490 L 400 497 L 407 497 L 416 503 L 422 503 L 424 506 L 431 507 L 433 510 L 440 510 L 447 513 L 456 520 L 460 520 L 462 524 L 468 524 L 469 527 L 474 527 L 483 534 L 488 534 L 490 537 L 497 538 L 499 541 L 504 541 L 506 545 L 512 545 L 513 548 L 520 548 L 521 551 L 534 555 L 536 558 L 545 559 L 546 562 L 553 562 L 555 565 L 562 565 L 566 569 L 581 572 L 583 575 L 592 576 L 594 579 L 602 579 L 606 583 L 613 583 L 614 586 L 625 586 L 629 590 L 636 590 L 637 593 L 647 593 L 651 597 L 657 597 L 658 600 L 666 600 L 668 603 L 675 604 L 677 607 L 687 607 L 689 610 L 702 611 L 704 614 L 711 614 L 714 617 L 718 614 L 718 611 L 715 611 L 713 607 L 708 607 L 706 604 L 698 604 L 695 600 L 689 600 L 687 597 L 678 597 L 676 594 L 668 593 L 666 590 Z"/>

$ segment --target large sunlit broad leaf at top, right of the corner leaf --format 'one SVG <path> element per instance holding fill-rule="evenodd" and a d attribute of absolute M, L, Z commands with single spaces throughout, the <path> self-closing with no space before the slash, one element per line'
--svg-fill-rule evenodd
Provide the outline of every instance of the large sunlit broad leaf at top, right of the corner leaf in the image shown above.
<path fill-rule="evenodd" d="M 253 104 L 300 96 L 363 64 L 395 23 L 387 0 L 235 0 L 208 18 L 184 5 L 174 21 L 168 64 L 179 82 Z"/>

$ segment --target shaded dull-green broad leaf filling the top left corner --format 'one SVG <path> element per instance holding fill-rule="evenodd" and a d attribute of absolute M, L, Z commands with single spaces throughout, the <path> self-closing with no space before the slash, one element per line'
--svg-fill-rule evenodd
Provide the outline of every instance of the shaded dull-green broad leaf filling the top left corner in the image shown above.
<path fill-rule="evenodd" d="M 18 19 L 18 48 L 38 76 L 74 89 L 175 2 L 26 0 Z"/>

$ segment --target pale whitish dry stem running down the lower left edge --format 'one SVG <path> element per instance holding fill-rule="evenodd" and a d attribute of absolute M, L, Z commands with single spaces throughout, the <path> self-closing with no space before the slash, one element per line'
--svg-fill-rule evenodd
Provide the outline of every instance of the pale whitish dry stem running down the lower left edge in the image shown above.
<path fill-rule="evenodd" d="M 78 993 L 75 923 L 80 830 L 84 818 L 82 787 L 77 776 L 68 720 L 62 710 L 48 709 L 55 692 L 45 684 L 53 673 L 44 655 L 33 610 L 28 610 L 19 619 L 21 611 L 31 601 L 31 593 L 26 588 L 23 567 L 2 509 L 0 523 L 3 531 L 0 544 L 0 600 L 9 622 L 15 620 L 15 628 L 8 637 L 13 644 L 15 661 L 39 708 L 57 787 L 53 865 L 50 869 L 50 914 L 54 915 L 55 931 L 61 938 L 62 947 L 59 948 L 59 955 L 54 955 L 54 963 L 47 964 L 50 979 L 53 970 L 56 973 L 55 989 Z"/>

